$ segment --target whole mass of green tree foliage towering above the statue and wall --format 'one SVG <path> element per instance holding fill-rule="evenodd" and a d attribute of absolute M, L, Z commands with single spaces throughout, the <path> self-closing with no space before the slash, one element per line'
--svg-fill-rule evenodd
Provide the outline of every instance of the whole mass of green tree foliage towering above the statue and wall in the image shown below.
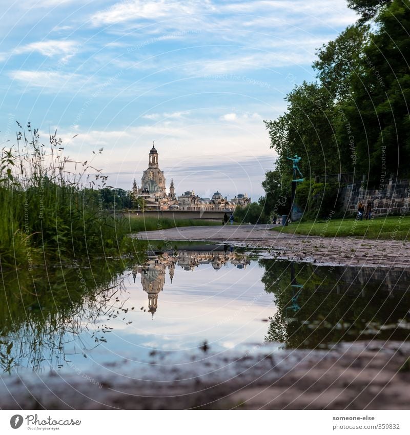
<path fill-rule="evenodd" d="M 292 176 L 286 157 L 298 154 L 305 178 L 355 172 L 378 188 L 391 174 L 410 176 L 410 1 L 349 6 L 361 18 L 317 51 L 318 80 L 296 86 L 265 125 L 280 174 Z"/>

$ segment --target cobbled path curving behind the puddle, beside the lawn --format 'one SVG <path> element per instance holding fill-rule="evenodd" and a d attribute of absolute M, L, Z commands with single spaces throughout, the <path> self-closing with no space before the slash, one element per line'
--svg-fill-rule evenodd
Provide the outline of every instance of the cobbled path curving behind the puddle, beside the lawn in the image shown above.
<path fill-rule="evenodd" d="M 410 243 L 360 237 L 281 234 L 271 225 L 188 226 L 148 231 L 133 237 L 151 240 L 206 240 L 263 247 L 275 258 L 351 266 L 410 267 Z"/>

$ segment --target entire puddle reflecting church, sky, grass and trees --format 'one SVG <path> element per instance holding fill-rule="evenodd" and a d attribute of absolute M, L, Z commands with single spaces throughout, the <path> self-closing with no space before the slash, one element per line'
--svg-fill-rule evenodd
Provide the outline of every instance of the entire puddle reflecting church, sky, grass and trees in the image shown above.
<path fill-rule="evenodd" d="M 410 271 L 260 259 L 229 245 L 161 248 L 141 261 L 3 274 L 0 370 L 137 367 L 153 350 L 180 358 L 204 341 L 217 352 L 408 340 Z"/>

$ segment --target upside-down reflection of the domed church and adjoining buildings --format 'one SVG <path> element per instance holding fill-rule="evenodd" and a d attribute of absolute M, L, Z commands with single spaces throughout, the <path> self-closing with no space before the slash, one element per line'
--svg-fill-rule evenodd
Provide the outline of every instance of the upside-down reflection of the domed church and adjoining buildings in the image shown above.
<path fill-rule="evenodd" d="M 163 290 L 165 276 L 168 273 L 172 283 L 175 268 L 180 267 L 184 271 L 194 271 L 196 267 L 210 264 L 215 271 L 228 263 L 238 269 L 244 269 L 251 264 L 251 260 L 240 253 L 234 252 L 233 246 L 224 245 L 223 248 L 212 251 L 174 251 L 163 252 L 160 255 L 147 255 L 147 261 L 136 264 L 132 269 L 134 282 L 138 275 L 141 276 L 142 289 L 148 294 L 148 311 L 154 318 L 154 313 L 158 308 L 158 295 Z"/>

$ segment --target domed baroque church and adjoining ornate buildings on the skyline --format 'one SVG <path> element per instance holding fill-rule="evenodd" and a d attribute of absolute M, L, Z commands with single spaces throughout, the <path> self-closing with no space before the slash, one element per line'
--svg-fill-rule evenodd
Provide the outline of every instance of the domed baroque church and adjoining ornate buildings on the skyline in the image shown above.
<path fill-rule="evenodd" d="M 212 198 L 201 198 L 195 195 L 194 191 L 186 191 L 176 197 L 174 180 L 171 179 L 169 193 L 166 190 L 166 180 L 163 171 L 159 169 L 158 152 L 153 144 L 150 154 L 148 169 L 144 171 L 141 178 L 141 187 L 138 187 L 136 180 L 132 187 L 135 198 L 144 198 L 145 210 L 147 211 L 210 211 L 210 212 L 234 212 L 237 205 L 247 206 L 251 198 L 245 193 L 239 193 L 235 198 L 228 200 L 218 191 Z"/>

